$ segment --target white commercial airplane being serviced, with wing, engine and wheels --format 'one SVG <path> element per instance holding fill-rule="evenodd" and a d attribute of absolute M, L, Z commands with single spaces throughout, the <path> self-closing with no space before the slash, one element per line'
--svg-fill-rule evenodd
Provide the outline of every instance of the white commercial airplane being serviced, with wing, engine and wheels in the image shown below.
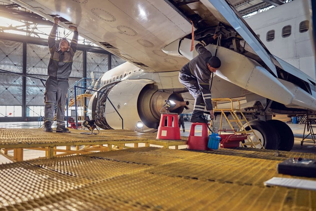
<path fill-rule="evenodd" d="M 63 27 L 77 26 L 82 37 L 128 61 L 96 81 L 125 129 L 142 121 L 143 131 L 155 131 L 167 99 L 189 101 L 186 108 L 193 109 L 193 97 L 178 80 L 181 67 L 197 55 L 190 49 L 192 30 L 195 43 L 221 34 L 217 56 L 222 66 L 212 97 L 242 99 L 265 148 L 290 150 L 294 143 L 289 127 L 271 121 L 272 115 L 316 112 L 310 1 L 295 0 L 247 18 L 252 28 L 226 0 L 14 2 L 51 21 L 63 17 Z M 214 55 L 216 45 L 207 48 Z M 91 97 L 89 117 L 104 129 L 122 127 L 102 93 Z"/>

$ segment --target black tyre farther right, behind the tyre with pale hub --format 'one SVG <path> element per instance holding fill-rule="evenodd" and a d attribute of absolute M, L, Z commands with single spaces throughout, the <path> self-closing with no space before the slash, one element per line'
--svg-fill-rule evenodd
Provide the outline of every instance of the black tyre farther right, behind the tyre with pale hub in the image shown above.
<path fill-rule="evenodd" d="M 294 145 L 294 134 L 291 128 L 280 120 L 269 120 L 267 123 L 276 129 L 279 134 L 280 141 L 278 145 L 278 150 L 290 151 Z"/>

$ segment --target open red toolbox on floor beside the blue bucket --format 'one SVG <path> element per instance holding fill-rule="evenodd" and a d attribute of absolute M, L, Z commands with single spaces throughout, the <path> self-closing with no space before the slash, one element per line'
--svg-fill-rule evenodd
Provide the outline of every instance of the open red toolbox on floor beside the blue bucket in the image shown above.
<path fill-rule="evenodd" d="M 221 148 L 233 148 L 239 147 L 239 142 L 246 140 L 249 134 L 236 134 L 235 130 L 218 130 L 219 131 L 234 131 L 234 133 L 230 134 L 221 134 L 220 147 Z"/>

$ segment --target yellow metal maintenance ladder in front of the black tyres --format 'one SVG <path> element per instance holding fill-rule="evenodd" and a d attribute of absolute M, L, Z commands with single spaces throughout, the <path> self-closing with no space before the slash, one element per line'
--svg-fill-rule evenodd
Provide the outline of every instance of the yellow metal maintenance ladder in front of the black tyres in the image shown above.
<path fill-rule="evenodd" d="M 213 103 L 214 102 L 214 103 Z M 237 99 L 230 99 L 230 98 L 214 98 L 212 99 L 212 103 L 214 105 L 213 111 L 214 112 L 221 112 L 221 123 L 219 130 L 222 130 L 222 121 L 223 121 L 223 116 L 225 117 L 226 121 L 228 122 L 229 126 L 234 130 L 234 127 L 232 126 L 231 122 L 235 122 L 237 126 L 239 127 L 239 131 L 236 131 L 236 133 L 240 134 L 249 134 L 247 136 L 247 141 L 245 143 L 240 142 L 241 146 L 251 146 L 253 148 L 257 148 L 256 146 L 259 145 L 264 149 L 264 146 L 262 145 L 261 141 L 259 140 L 258 136 L 256 133 L 254 133 L 252 127 L 250 126 L 249 122 L 247 121 L 245 115 L 241 112 L 240 109 L 240 101 Z M 219 108 L 220 107 L 220 108 Z M 223 108 L 221 108 L 223 107 Z M 230 107 L 230 108 L 229 108 Z M 233 117 L 233 119 L 228 119 L 227 115 L 225 112 L 229 112 L 230 115 Z M 241 115 L 241 119 L 238 117 L 238 114 Z M 244 125 L 248 126 L 250 130 L 246 130 Z M 221 133 L 221 131 L 220 131 Z M 256 141 L 253 140 L 256 138 Z"/>

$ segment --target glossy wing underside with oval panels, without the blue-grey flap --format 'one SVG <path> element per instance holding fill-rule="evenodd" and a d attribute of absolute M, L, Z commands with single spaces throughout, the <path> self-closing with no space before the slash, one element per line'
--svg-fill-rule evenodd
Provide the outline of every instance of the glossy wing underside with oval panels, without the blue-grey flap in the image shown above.
<path fill-rule="evenodd" d="M 184 57 L 161 51 L 191 33 L 191 22 L 163 0 L 14 0 L 15 3 L 60 25 L 77 26 L 79 34 L 144 71 L 180 70 Z"/>

